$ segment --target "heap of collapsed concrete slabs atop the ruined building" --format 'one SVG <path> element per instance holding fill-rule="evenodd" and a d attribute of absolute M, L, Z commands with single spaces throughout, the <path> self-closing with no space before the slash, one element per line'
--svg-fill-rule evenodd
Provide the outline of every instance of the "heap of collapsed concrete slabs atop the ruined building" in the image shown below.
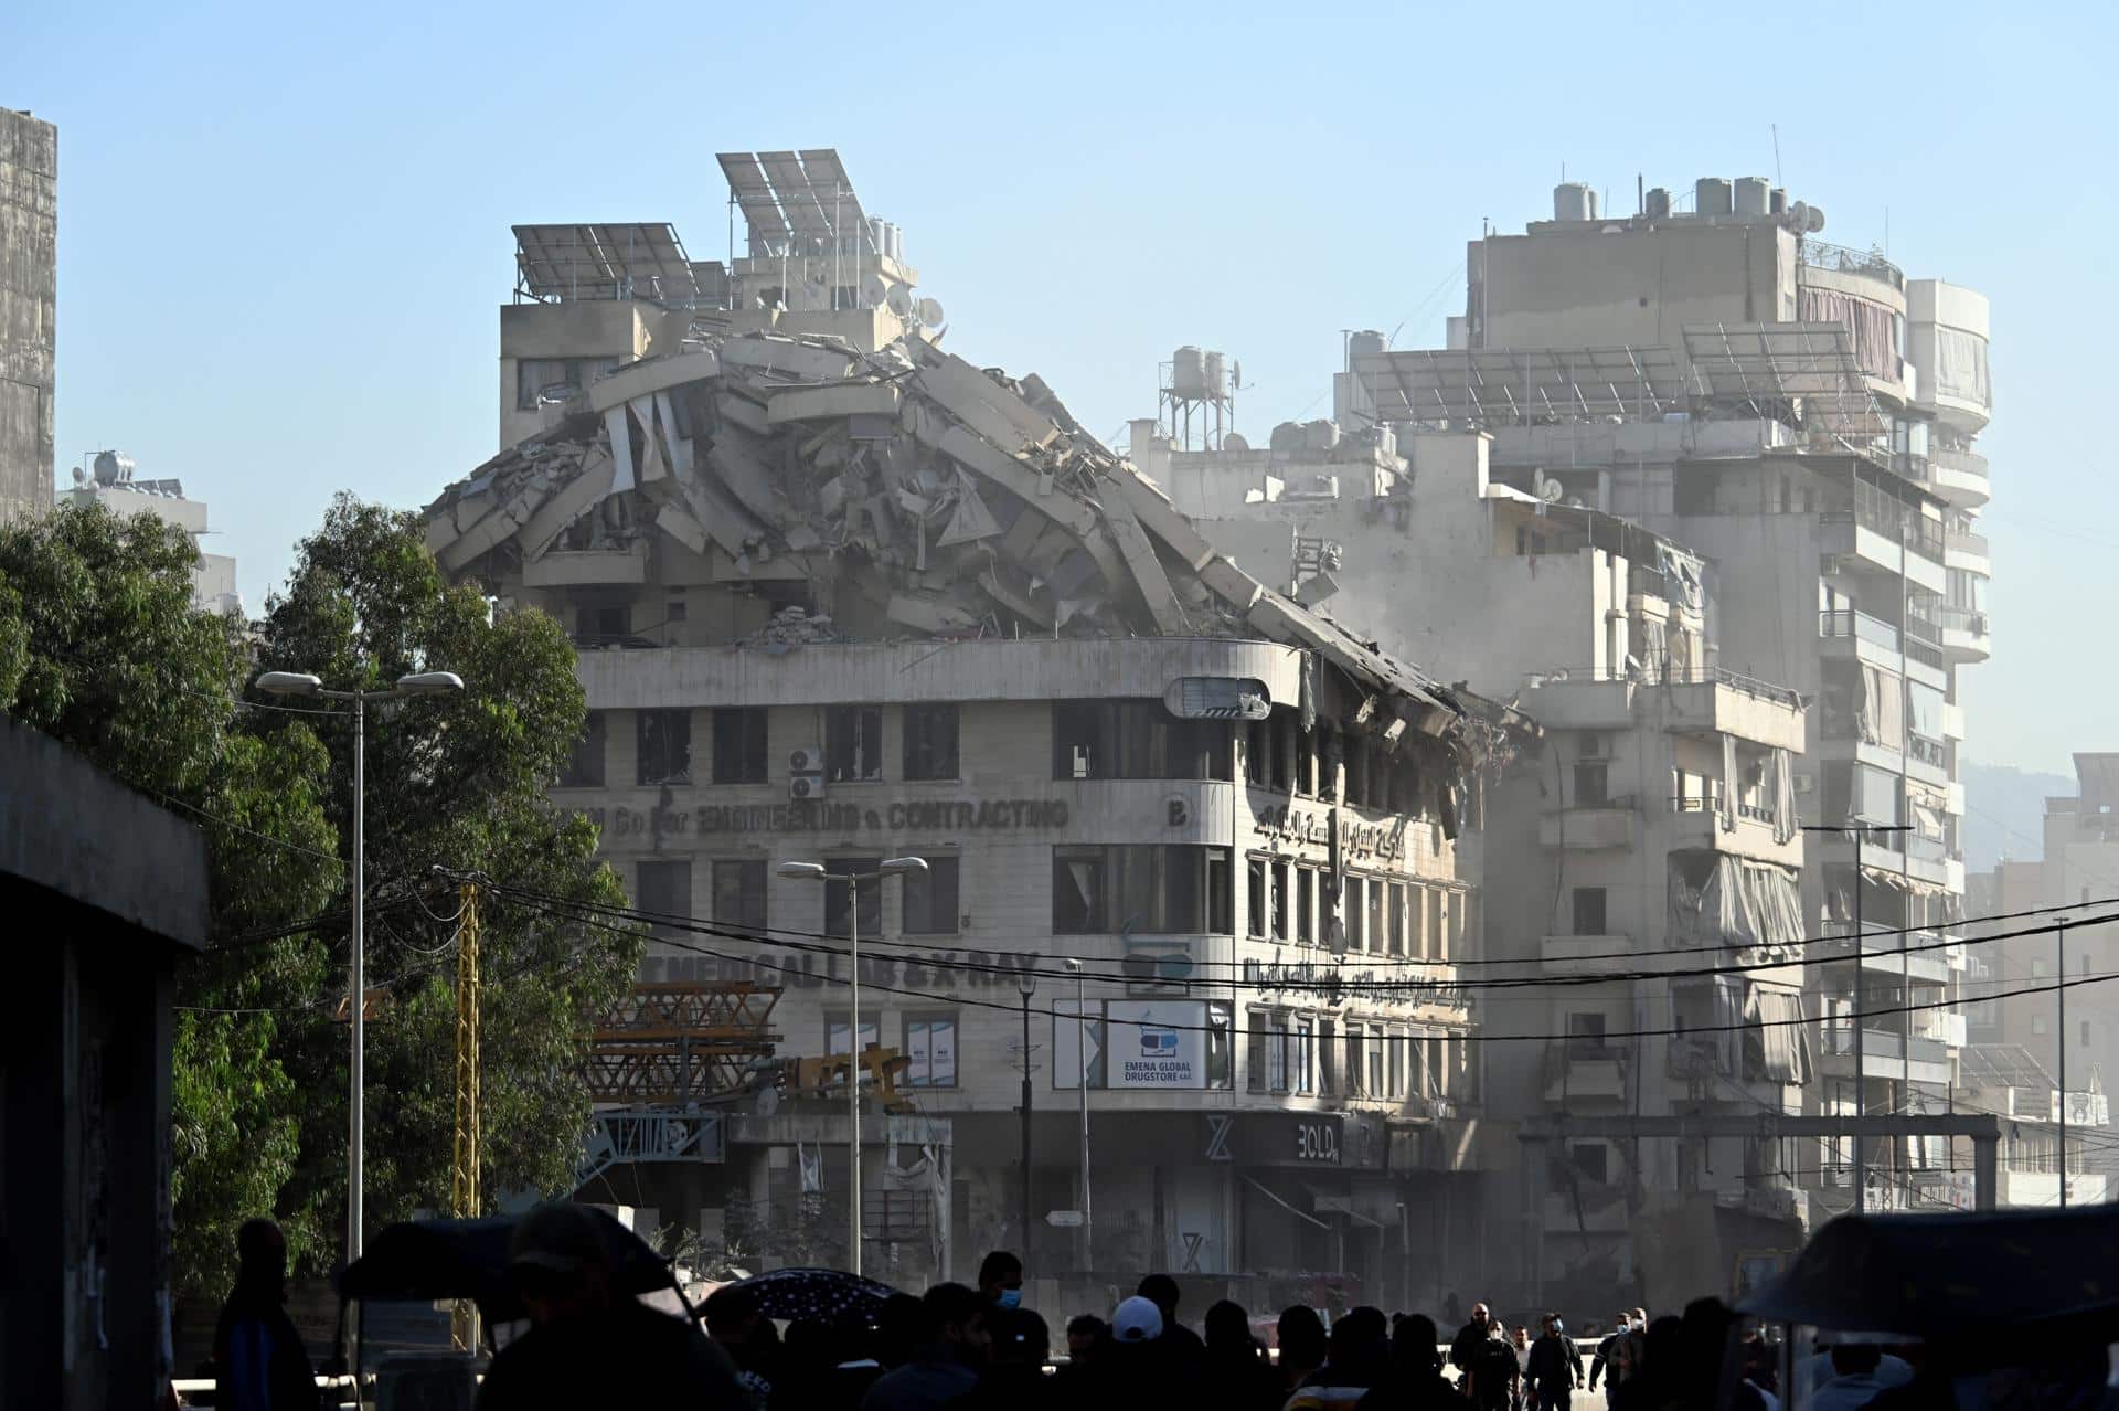
<path fill-rule="evenodd" d="M 1471 739 L 1466 701 L 1246 574 L 1038 377 L 907 333 L 735 333 L 598 379 L 451 485 L 428 547 L 460 576 L 807 581 L 756 644 L 909 636 L 1248 636 L 1316 653 L 1379 699 L 1369 729 Z M 638 566 L 634 566 L 638 559 Z M 704 561 L 704 564 L 699 564 Z M 638 574 L 638 576 L 636 576 Z"/>

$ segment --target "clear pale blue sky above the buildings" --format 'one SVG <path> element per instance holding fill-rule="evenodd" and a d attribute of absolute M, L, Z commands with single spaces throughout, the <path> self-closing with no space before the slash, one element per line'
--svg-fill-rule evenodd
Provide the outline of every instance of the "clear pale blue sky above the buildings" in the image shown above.
<path fill-rule="evenodd" d="M 1339 331 L 1441 343 L 1481 216 L 1562 163 L 1780 174 L 1827 239 L 1994 301 L 1994 659 L 1971 752 L 2115 748 L 2102 481 L 2119 263 L 2111 6 L 8 4 L 0 104 L 59 123 L 59 462 L 212 504 L 259 606 L 337 489 L 494 451 L 519 220 L 725 252 L 714 153 L 837 146 L 949 311 L 1100 432 L 1178 343 L 1329 413 Z M 1428 663 L 1443 676 L 1447 663 Z"/>

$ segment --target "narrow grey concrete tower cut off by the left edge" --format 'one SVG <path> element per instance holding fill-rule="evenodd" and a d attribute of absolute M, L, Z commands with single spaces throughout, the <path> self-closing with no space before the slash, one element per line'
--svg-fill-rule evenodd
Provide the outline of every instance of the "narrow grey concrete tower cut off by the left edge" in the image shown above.
<path fill-rule="evenodd" d="M 59 129 L 0 108 L 0 521 L 51 508 Z"/>

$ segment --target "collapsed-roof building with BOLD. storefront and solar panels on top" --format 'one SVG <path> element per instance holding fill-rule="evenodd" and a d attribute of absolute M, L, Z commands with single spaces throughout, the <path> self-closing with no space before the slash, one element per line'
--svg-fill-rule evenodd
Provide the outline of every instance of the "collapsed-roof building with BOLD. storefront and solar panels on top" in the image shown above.
<path fill-rule="evenodd" d="M 714 928 L 665 928 L 642 981 L 780 987 L 778 1057 L 898 1055 L 951 1169 L 905 1212 L 911 1153 L 865 1127 L 886 1278 L 922 1220 L 958 1275 L 996 1246 L 1282 1301 L 1477 1275 L 1456 839 L 1517 718 L 1240 570 L 1038 377 L 945 352 L 833 153 L 723 167 L 727 265 L 670 227 L 517 229 L 502 451 L 426 511 L 449 574 L 581 646 L 555 803 L 638 907 Z M 858 900 L 776 871 L 898 856 L 926 871 Z M 746 1180 L 799 1178 L 835 1263 L 843 1097 L 818 1110 L 797 1172 Z M 665 1216 L 733 1218 L 697 1163 L 636 1174 Z"/>

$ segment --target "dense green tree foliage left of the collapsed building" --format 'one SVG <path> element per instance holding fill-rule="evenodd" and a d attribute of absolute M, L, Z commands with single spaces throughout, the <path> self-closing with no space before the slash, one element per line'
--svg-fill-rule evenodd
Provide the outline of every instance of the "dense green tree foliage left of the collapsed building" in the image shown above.
<path fill-rule="evenodd" d="M 216 1292 L 233 1229 L 271 1212 L 301 1267 L 339 1258 L 352 720 L 248 693 L 263 669 L 466 691 L 367 708 L 367 1220 L 447 1208 L 456 888 L 473 871 L 623 903 L 595 833 L 545 786 L 585 720 L 566 636 L 443 583 L 411 515 L 341 496 L 256 629 L 191 606 L 191 540 L 68 506 L 0 528 L 0 712 L 74 746 L 208 835 L 212 949 L 180 970 L 174 1197 L 180 1288 Z M 638 936 L 545 907 L 481 907 L 485 1191 L 568 1184 L 587 1121 L 581 1011 Z"/>

